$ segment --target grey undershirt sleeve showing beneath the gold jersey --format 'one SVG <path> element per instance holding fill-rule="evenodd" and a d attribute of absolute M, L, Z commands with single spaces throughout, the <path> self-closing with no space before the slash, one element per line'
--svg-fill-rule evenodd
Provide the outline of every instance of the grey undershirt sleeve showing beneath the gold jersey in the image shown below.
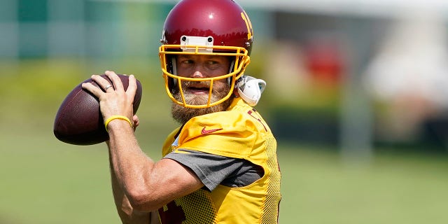
<path fill-rule="evenodd" d="M 179 149 L 165 158 L 175 160 L 190 168 L 211 191 L 219 184 L 225 186 L 246 186 L 259 179 L 262 171 L 258 166 L 243 159 Z"/>

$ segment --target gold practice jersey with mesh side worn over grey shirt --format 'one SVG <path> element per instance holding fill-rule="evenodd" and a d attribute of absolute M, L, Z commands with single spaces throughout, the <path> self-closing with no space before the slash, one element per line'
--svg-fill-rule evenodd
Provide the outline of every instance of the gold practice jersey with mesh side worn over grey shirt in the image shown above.
<path fill-rule="evenodd" d="M 262 167 L 264 175 L 248 186 L 218 185 L 211 192 L 200 189 L 176 199 L 159 209 L 162 224 L 278 222 L 281 174 L 276 140 L 257 111 L 237 98 L 228 111 L 197 116 L 179 130 L 165 141 L 163 156 L 187 149 L 244 159 Z"/>

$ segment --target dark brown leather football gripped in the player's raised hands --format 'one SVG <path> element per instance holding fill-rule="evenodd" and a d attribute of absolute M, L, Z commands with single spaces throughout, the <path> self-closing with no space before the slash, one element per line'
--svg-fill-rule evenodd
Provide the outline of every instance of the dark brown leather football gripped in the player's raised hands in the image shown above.
<path fill-rule="evenodd" d="M 101 75 L 112 84 L 106 75 Z M 127 90 L 129 77 L 118 75 Z M 98 86 L 91 78 L 83 83 Z M 93 94 L 84 90 L 80 83 L 65 97 L 57 111 L 53 132 L 60 141 L 73 145 L 99 144 L 109 139 L 104 127 L 104 120 L 99 111 L 99 100 Z M 137 92 L 134 97 L 134 114 L 139 109 L 141 101 L 141 83 L 137 80 Z"/>

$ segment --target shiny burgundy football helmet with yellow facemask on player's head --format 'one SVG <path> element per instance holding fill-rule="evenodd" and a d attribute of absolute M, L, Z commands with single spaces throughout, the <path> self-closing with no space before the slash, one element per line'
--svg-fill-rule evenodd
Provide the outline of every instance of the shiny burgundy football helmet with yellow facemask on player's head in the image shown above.
<path fill-rule="evenodd" d="M 232 0 L 182 0 L 167 15 L 159 48 L 165 89 L 176 104 L 207 108 L 221 104 L 232 95 L 236 81 L 250 62 L 253 29 L 246 12 Z M 213 78 L 188 78 L 176 73 L 176 55 L 223 55 L 231 57 L 230 71 Z M 230 92 L 211 102 L 213 83 L 227 79 Z M 207 104 L 188 104 L 182 82 L 209 82 Z M 176 99 L 180 94 L 181 99 Z"/>

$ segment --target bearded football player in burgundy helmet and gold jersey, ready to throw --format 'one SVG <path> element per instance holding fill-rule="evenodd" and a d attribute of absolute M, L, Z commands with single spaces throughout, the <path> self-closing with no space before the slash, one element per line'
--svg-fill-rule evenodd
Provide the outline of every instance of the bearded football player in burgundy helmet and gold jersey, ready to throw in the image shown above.
<path fill-rule="evenodd" d="M 276 140 L 252 106 L 265 82 L 244 76 L 253 44 L 246 12 L 232 0 L 183 0 L 165 21 L 160 62 L 172 116 L 162 160 L 134 137 L 136 79 L 125 91 L 92 76 L 109 132 L 113 196 L 123 223 L 278 223 Z"/>

